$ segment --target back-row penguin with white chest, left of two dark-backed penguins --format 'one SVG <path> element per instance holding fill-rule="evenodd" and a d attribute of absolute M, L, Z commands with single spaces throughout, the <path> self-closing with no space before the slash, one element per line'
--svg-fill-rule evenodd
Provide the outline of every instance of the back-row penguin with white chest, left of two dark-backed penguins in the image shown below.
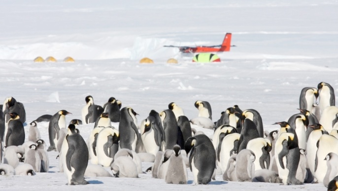
<path fill-rule="evenodd" d="M 85 98 L 86 105 L 82 108 L 82 123 L 94 123 L 96 119 L 102 114 L 103 108 L 101 106 L 94 104 L 94 99 L 92 96 L 87 96 Z"/>

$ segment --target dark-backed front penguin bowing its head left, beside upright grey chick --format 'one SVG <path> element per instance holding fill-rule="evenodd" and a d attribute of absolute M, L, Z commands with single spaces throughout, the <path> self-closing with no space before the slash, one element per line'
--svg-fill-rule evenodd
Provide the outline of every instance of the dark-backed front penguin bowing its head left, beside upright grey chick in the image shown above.
<path fill-rule="evenodd" d="M 190 137 L 184 150 L 190 152 L 189 164 L 195 184 L 208 184 L 216 167 L 216 153 L 210 139 L 206 135 Z"/>

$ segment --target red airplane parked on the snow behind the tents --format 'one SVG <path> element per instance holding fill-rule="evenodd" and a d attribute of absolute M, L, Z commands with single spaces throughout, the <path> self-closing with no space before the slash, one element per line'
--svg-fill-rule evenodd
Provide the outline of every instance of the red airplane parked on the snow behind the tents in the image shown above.
<path fill-rule="evenodd" d="M 179 48 L 180 52 L 183 53 L 195 53 L 195 52 L 226 52 L 230 51 L 230 45 L 231 43 L 231 33 L 225 34 L 223 43 L 220 45 L 214 45 L 214 46 L 196 46 L 196 47 L 190 47 L 190 46 L 165 46 L 165 47 L 177 47 Z M 233 45 L 235 46 L 235 45 Z"/>

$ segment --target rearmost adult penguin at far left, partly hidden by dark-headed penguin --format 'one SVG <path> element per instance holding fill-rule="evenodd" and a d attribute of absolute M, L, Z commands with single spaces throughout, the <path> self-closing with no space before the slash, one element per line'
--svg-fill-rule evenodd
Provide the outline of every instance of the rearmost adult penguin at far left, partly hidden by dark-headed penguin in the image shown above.
<path fill-rule="evenodd" d="M 7 97 L 2 105 L 3 115 L 16 113 L 20 116 L 20 121 L 25 123 L 26 121 L 26 111 L 22 103 L 17 102 L 13 97 Z"/>

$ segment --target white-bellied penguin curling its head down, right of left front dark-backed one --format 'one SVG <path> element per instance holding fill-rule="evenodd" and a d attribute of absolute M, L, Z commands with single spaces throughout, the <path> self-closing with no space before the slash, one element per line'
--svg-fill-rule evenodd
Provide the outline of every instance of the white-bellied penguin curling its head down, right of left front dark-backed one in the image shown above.
<path fill-rule="evenodd" d="M 119 140 L 119 131 L 114 127 L 105 127 L 100 131 L 96 143 L 98 164 L 110 166 L 119 150 Z"/>

